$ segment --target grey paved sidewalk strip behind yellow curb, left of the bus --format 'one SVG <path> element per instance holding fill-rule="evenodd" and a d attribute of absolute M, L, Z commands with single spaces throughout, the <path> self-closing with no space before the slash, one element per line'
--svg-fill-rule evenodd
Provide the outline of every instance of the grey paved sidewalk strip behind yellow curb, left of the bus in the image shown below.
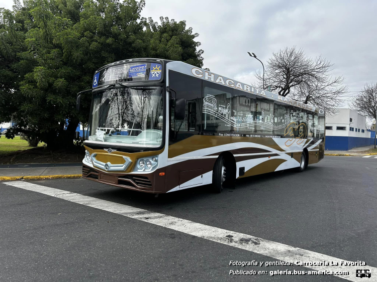
<path fill-rule="evenodd" d="M 6 177 L 72 176 L 82 174 L 82 163 L 0 165 L 0 180 Z"/>

